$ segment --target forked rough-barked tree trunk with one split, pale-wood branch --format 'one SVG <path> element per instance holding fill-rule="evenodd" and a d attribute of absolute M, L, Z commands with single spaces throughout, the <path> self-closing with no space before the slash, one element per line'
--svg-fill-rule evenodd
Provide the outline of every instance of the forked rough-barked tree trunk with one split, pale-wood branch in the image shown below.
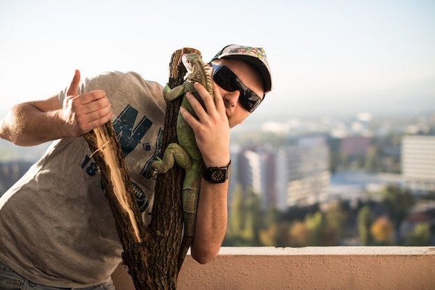
<path fill-rule="evenodd" d="M 172 54 L 168 85 L 183 83 L 186 68 L 181 62 L 184 53 L 199 53 L 183 48 Z M 168 144 L 177 142 L 177 115 L 181 98 L 167 103 L 162 153 Z M 177 164 L 156 180 L 151 223 L 142 221 L 131 180 L 112 123 L 109 121 L 84 135 L 93 152 L 101 179 L 113 210 L 117 231 L 136 289 L 176 289 L 177 257 L 183 229 L 181 185 L 184 171 Z"/>

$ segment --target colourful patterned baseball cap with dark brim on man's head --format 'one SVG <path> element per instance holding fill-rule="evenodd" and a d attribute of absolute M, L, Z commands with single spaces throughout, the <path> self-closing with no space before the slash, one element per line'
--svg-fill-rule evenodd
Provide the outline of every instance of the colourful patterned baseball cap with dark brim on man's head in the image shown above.
<path fill-rule="evenodd" d="M 220 60 L 221 58 L 238 58 L 254 65 L 263 77 L 264 91 L 270 92 L 272 89 L 272 74 L 266 53 L 262 47 L 251 47 L 237 44 L 230 44 L 219 51 L 210 62 Z"/>

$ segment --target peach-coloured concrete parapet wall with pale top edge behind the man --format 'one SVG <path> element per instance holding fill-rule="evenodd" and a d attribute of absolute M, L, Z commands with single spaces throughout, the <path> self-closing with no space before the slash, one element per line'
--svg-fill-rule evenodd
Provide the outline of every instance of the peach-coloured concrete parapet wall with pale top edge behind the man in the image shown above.
<path fill-rule="evenodd" d="M 134 289 L 125 266 L 117 289 Z M 222 248 L 211 263 L 188 255 L 178 289 L 435 289 L 435 248 Z"/>

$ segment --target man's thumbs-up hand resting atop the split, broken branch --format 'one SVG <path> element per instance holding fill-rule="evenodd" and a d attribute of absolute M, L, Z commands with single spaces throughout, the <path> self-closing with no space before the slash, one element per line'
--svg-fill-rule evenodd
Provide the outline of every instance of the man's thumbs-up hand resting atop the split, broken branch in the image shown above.
<path fill-rule="evenodd" d="M 72 136 L 80 136 L 103 125 L 112 117 L 110 103 L 102 90 L 78 95 L 80 71 L 76 70 L 63 101 L 62 118 Z"/>

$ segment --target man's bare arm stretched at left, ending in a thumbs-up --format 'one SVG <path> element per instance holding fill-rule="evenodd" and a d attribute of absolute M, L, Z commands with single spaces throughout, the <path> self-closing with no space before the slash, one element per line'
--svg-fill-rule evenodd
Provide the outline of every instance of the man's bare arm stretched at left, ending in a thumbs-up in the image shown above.
<path fill-rule="evenodd" d="M 110 120 L 103 91 L 77 94 L 80 72 L 69 86 L 63 107 L 58 96 L 15 105 L 0 121 L 0 137 L 19 146 L 34 146 L 62 137 L 78 137 Z"/>

